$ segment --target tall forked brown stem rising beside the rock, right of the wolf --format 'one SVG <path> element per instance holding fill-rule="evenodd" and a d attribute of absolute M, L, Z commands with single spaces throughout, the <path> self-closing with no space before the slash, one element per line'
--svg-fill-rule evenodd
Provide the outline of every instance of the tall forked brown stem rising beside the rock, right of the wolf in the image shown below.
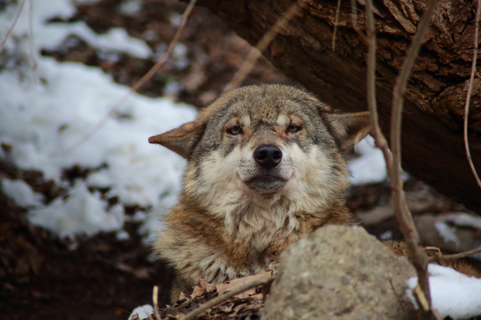
<path fill-rule="evenodd" d="M 367 38 L 368 38 L 368 57 L 367 57 L 367 102 L 369 111 L 371 111 L 371 125 L 372 133 L 375 139 L 376 146 L 378 146 L 384 155 L 386 167 L 389 177 L 391 178 L 391 188 L 394 201 L 394 211 L 399 223 L 399 227 L 404 235 L 408 250 L 409 261 L 415 267 L 418 273 L 418 283 L 422 289 L 422 297 L 428 302 L 430 307 L 430 291 L 428 283 L 428 257 L 423 249 L 419 246 L 419 235 L 414 225 L 412 215 L 407 208 L 405 198 L 402 194 L 403 180 L 401 179 L 400 161 L 401 161 L 401 120 L 402 109 L 409 74 L 412 70 L 414 60 L 418 54 L 421 46 L 421 41 L 430 25 L 431 15 L 436 8 L 437 0 L 430 0 L 425 10 L 423 18 L 418 25 L 416 36 L 409 47 L 407 56 L 404 60 L 403 67 L 393 90 L 392 99 L 392 122 L 391 122 L 391 150 L 392 157 L 388 150 L 387 141 L 382 134 L 378 121 L 377 107 L 376 107 L 376 92 L 375 92 L 375 64 L 376 64 L 376 34 L 374 28 L 374 13 L 372 0 L 366 0 L 367 9 Z M 431 312 L 430 308 L 426 310 L 422 316 L 426 319 L 436 318 L 436 314 Z"/>

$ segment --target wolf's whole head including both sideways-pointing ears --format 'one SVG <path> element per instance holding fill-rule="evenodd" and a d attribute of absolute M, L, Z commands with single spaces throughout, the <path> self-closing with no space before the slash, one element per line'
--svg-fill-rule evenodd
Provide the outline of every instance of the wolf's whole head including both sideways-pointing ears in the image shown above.
<path fill-rule="evenodd" d="M 189 160 L 183 192 L 211 211 L 221 202 L 226 210 L 295 199 L 290 209 L 309 212 L 345 193 L 342 151 L 369 131 L 368 112 L 333 111 L 302 90 L 263 84 L 228 91 L 194 121 L 149 142 Z"/>

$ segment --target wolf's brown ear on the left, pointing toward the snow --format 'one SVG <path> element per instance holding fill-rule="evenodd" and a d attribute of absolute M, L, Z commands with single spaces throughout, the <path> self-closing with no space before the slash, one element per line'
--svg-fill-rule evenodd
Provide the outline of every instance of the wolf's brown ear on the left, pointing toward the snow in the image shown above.
<path fill-rule="evenodd" d="M 200 139 L 204 126 L 203 123 L 200 124 L 198 121 L 185 123 L 176 129 L 150 137 L 149 142 L 162 144 L 164 147 L 189 159 L 190 152 Z"/>

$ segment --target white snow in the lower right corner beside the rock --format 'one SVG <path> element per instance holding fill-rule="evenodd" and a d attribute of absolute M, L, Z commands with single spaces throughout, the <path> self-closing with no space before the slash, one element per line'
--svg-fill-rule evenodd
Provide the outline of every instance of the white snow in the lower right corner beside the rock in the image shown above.
<path fill-rule="evenodd" d="M 481 279 L 469 277 L 456 270 L 430 263 L 429 286 L 433 308 L 442 319 L 467 319 L 481 315 Z M 406 295 L 418 308 L 412 290 L 418 285 L 418 277 L 407 280 Z"/>

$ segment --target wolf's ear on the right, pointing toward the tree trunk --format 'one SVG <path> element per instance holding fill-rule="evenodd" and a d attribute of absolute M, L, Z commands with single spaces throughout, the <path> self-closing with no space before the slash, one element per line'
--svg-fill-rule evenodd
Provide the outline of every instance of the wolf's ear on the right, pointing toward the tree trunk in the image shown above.
<path fill-rule="evenodd" d="M 330 133 L 345 151 L 361 141 L 371 131 L 369 111 L 365 112 L 323 112 Z"/>

